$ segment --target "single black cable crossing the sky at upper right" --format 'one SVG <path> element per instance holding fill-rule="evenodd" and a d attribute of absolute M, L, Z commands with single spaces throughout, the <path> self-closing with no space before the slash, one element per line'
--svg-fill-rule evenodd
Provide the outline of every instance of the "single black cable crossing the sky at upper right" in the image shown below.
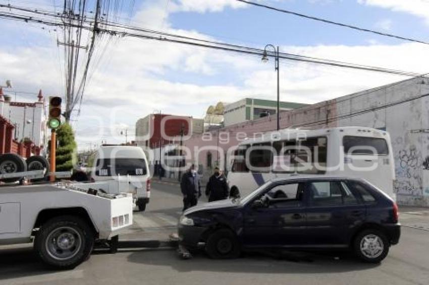
<path fill-rule="evenodd" d="M 313 17 L 313 16 L 309 16 L 309 15 L 304 15 L 304 14 L 301 14 L 301 13 L 297 13 L 297 12 L 293 12 L 293 11 L 289 11 L 289 10 L 284 10 L 284 9 L 280 9 L 280 8 L 276 8 L 276 7 L 268 6 L 268 5 L 264 5 L 264 4 L 259 4 L 259 3 L 255 3 L 255 2 L 251 2 L 251 1 L 247 1 L 247 0 L 236 0 L 236 1 L 242 2 L 242 3 L 246 3 L 246 4 L 249 4 L 249 5 L 253 5 L 253 6 L 257 6 L 257 7 L 260 7 L 260 8 L 269 9 L 269 10 L 272 10 L 272 11 L 277 11 L 277 12 L 286 13 L 286 14 L 290 14 L 290 15 L 294 15 L 294 16 L 298 16 L 298 17 L 302 17 L 302 18 L 306 18 L 306 19 L 310 19 L 310 20 L 314 20 L 314 21 L 323 22 L 323 23 L 326 23 L 326 24 L 332 24 L 332 25 L 336 25 L 336 26 L 350 28 L 350 29 L 353 29 L 353 30 L 361 31 L 361 32 L 367 32 L 367 33 L 372 33 L 372 34 L 376 34 L 376 35 L 380 35 L 380 36 L 391 37 L 391 38 L 396 38 L 396 39 L 405 40 L 405 41 L 409 41 L 409 42 L 416 42 L 416 43 L 422 43 L 422 44 L 429 45 L 429 42 L 422 41 L 422 40 L 417 40 L 417 39 L 412 39 L 412 38 L 397 36 L 397 35 L 388 34 L 388 33 L 380 32 L 380 31 L 374 31 L 374 30 L 365 29 L 365 28 L 361 28 L 361 27 L 357 27 L 357 26 L 353 26 L 353 25 L 348 25 L 348 24 L 340 23 L 340 22 L 334 22 L 334 21 L 331 21 L 331 20 L 327 20 L 327 19 L 323 19 L 323 18 L 317 18 L 317 17 Z"/>

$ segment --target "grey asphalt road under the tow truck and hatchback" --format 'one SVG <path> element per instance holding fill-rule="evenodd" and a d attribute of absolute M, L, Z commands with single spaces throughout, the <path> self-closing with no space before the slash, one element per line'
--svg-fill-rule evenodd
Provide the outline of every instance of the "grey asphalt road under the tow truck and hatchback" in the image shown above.
<path fill-rule="evenodd" d="M 177 185 L 153 183 L 147 212 L 122 238 L 167 238 L 174 232 L 182 200 Z M 253 253 L 236 260 L 211 260 L 203 253 L 181 260 L 174 250 L 95 252 L 70 271 L 50 271 L 29 245 L 0 248 L 0 285 L 14 284 L 428 284 L 429 215 L 404 211 L 398 245 L 376 265 L 345 253 L 270 256 Z"/>

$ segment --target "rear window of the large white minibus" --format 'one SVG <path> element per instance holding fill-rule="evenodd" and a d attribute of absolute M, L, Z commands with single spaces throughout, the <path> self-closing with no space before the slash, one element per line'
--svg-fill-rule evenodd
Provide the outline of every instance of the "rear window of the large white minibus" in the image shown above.
<path fill-rule="evenodd" d="M 378 137 L 350 136 L 343 137 L 344 153 L 352 155 L 388 155 L 386 139 Z"/>

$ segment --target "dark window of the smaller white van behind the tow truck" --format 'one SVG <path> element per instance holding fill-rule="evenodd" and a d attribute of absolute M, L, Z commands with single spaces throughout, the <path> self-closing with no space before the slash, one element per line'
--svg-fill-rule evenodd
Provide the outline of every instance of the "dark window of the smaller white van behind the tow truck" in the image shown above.
<path fill-rule="evenodd" d="M 139 158 L 105 158 L 97 160 L 98 176 L 132 175 L 144 176 L 147 174 L 146 162 Z"/>

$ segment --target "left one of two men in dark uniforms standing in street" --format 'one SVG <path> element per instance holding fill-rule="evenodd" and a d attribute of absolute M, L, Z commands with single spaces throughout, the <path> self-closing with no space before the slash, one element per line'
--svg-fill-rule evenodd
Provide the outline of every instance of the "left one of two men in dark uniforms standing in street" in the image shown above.
<path fill-rule="evenodd" d="M 200 179 L 195 165 L 192 164 L 189 170 L 183 174 L 180 189 L 183 194 L 183 210 L 195 206 L 198 198 L 201 197 Z"/>

